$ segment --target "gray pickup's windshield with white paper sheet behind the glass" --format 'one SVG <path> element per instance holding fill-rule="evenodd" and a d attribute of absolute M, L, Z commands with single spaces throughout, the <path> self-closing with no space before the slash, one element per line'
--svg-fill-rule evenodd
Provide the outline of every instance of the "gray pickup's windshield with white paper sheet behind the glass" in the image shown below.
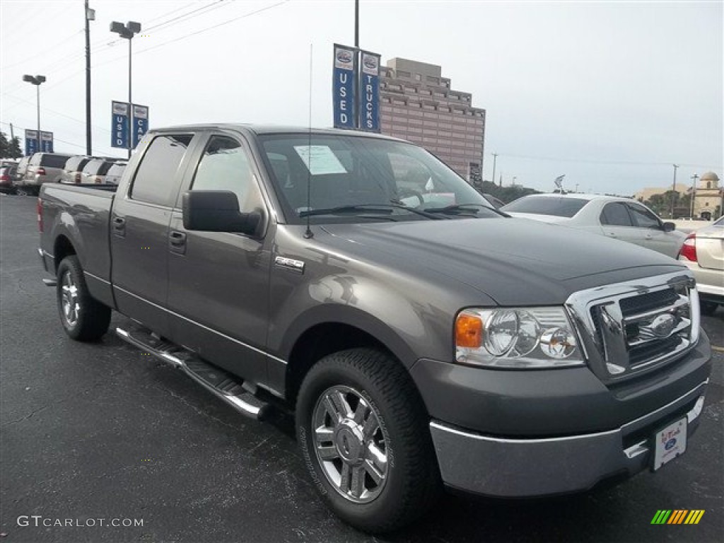
<path fill-rule="evenodd" d="M 411 143 L 319 133 L 311 141 L 307 134 L 260 140 L 291 222 L 500 216 L 458 174 Z M 434 211 L 418 212 L 426 209 Z"/>

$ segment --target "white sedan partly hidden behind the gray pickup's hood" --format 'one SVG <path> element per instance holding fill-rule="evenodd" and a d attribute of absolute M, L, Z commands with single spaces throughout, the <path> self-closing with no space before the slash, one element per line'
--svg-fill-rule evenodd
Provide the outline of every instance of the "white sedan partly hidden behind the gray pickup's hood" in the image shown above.
<path fill-rule="evenodd" d="M 628 198 L 598 194 L 531 194 L 500 208 L 512 216 L 562 224 L 593 234 L 636 243 L 671 258 L 686 234 L 662 222 L 647 206 Z"/>

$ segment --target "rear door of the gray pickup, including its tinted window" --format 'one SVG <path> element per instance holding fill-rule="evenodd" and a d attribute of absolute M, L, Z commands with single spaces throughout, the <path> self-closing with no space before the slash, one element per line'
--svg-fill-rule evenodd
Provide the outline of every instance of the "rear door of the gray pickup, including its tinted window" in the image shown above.
<path fill-rule="evenodd" d="M 164 336 L 169 335 L 169 222 L 193 143 L 190 132 L 153 135 L 111 213 L 111 282 L 118 309 Z"/>

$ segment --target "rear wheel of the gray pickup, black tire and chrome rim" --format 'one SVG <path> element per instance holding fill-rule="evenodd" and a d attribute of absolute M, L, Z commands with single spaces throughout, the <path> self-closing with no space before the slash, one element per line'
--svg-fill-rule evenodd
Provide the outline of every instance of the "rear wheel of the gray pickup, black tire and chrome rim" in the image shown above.
<path fill-rule="evenodd" d="M 66 256 L 58 266 L 56 295 L 65 332 L 77 341 L 96 341 L 108 332 L 111 308 L 90 297 L 78 257 Z"/>

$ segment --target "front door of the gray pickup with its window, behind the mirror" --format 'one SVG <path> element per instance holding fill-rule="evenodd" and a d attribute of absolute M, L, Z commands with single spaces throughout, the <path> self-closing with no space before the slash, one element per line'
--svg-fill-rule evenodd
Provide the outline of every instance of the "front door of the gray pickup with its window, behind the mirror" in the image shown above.
<path fill-rule="evenodd" d="M 240 211 L 264 209 L 269 217 L 240 135 L 209 132 L 187 177 L 183 190 L 231 190 Z M 271 227 L 256 235 L 186 230 L 181 206 L 180 193 L 167 241 L 172 337 L 244 379 L 266 382 Z"/>

